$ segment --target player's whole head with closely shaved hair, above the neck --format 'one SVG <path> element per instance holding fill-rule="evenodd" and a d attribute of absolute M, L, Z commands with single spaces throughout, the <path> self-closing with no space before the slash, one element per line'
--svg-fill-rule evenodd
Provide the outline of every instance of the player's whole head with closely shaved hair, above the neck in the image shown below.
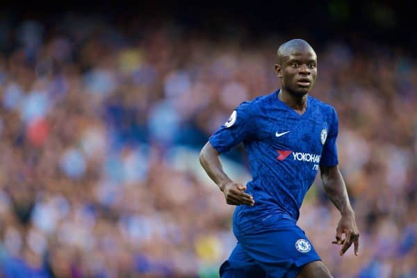
<path fill-rule="evenodd" d="M 295 39 L 282 44 L 277 56 L 275 73 L 281 79 L 281 90 L 297 97 L 306 95 L 316 82 L 316 52 L 305 40 Z"/>

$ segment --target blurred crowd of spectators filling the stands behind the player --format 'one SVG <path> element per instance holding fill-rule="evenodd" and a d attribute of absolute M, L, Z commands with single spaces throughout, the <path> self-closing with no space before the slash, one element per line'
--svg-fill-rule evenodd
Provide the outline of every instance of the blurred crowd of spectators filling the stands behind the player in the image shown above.
<path fill-rule="evenodd" d="M 234 207 L 199 149 L 241 101 L 278 88 L 289 39 L 89 17 L 1 24 L 0 276 L 218 277 Z M 331 244 L 339 215 L 320 179 L 299 224 L 334 277 L 417 277 L 417 60 L 365 43 L 312 45 L 311 95 L 338 111 L 360 255 Z M 245 159 L 224 155 L 238 180 Z"/>

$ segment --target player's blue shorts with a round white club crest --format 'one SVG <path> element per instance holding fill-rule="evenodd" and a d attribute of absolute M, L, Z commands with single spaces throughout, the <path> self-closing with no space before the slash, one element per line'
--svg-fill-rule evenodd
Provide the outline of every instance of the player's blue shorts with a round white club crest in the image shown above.
<path fill-rule="evenodd" d="M 220 267 L 222 278 L 295 278 L 303 265 L 321 260 L 291 220 L 278 220 L 274 229 L 235 236 L 238 244 Z"/>

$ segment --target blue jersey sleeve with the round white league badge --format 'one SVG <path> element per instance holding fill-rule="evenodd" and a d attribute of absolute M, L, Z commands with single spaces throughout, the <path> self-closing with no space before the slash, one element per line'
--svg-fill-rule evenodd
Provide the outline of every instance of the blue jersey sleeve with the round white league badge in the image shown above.
<path fill-rule="evenodd" d="M 250 102 L 243 102 L 234 110 L 227 122 L 208 139 L 218 152 L 227 152 L 240 142 L 249 140 L 255 132 Z"/>

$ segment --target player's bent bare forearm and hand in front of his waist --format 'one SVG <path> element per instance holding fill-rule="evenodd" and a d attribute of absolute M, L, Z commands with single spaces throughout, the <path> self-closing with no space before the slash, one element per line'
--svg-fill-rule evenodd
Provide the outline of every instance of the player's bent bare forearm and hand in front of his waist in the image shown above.
<path fill-rule="evenodd" d="M 253 206 L 254 199 L 251 195 L 245 193 L 246 186 L 240 183 L 234 183 L 223 171 L 222 162 L 220 161 L 219 152 L 207 142 L 199 154 L 199 161 L 215 184 L 218 185 L 227 204 L 240 205 L 246 204 Z"/>

